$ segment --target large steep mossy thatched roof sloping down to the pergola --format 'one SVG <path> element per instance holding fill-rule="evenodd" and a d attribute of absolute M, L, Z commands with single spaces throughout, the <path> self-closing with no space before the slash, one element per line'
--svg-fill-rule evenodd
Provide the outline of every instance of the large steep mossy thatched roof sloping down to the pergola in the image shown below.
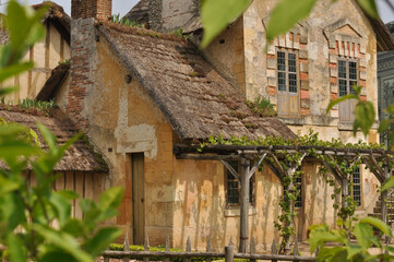
<path fill-rule="evenodd" d="M 295 136 L 278 118 L 254 115 L 243 95 L 183 38 L 111 23 L 98 31 L 180 139 Z"/>

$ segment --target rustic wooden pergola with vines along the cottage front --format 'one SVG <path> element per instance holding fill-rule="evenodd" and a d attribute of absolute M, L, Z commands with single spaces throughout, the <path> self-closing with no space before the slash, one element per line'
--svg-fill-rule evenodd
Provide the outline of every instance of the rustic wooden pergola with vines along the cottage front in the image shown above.
<path fill-rule="evenodd" d="M 313 152 L 313 153 L 312 153 Z M 333 164 L 335 157 L 346 160 L 349 166 L 356 162 L 365 164 L 377 179 L 384 183 L 391 176 L 390 163 L 394 159 L 394 152 L 385 150 L 359 150 L 359 148 L 336 148 L 325 146 L 302 146 L 302 145 L 274 145 L 274 146 L 250 146 L 250 145 L 206 145 L 202 147 L 199 144 L 175 144 L 174 154 L 177 159 L 196 159 L 196 160 L 220 160 L 227 169 L 240 181 L 240 241 L 239 252 L 247 252 L 248 233 L 249 233 L 249 181 L 259 166 L 264 163 L 278 177 L 283 183 L 284 178 L 290 177 L 297 170 L 297 167 L 305 158 L 312 158 L 324 165 L 334 176 L 335 180 L 342 186 L 342 206 L 346 207 L 346 198 L 349 195 L 348 183 L 350 175 L 343 174 L 337 164 Z M 286 155 L 298 154 L 298 163 L 288 163 L 287 168 L 280 165 L 280 159 Z M 326 162 L 317 155 L 324 155 L 332 162 Z M 271 160 L 267 160 L 267 157 Z M 251 159 L 256 159 L 251 165 Z M 235 170 L 229 160 L 240 160 L 240 174 Z M 292 190 L 290 183 L 286 190 Z M 387 191 L 381 192 L 382 200 L 387 198 Z M 294 206 L 291 204 L 291 206 Z M 381 219 L 387 222 L 387 204 L 381 201 Z"/>

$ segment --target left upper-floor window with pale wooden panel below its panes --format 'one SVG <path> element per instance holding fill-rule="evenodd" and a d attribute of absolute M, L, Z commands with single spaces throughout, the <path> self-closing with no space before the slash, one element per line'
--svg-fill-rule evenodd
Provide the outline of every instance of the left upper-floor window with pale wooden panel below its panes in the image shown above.
<path fill-rule="evenodd" d="M 280 117 L 299 117 L 298 55 L 287 49 L 277 51 L 277 112 Z"/>

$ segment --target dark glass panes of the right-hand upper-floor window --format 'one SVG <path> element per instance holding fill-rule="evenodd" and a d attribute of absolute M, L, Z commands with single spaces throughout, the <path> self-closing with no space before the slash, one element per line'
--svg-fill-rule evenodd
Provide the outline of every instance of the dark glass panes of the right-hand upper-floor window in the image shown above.
<path fill-rule="evenodd" d="M 338 60 L 338 86 L 339 96 L 353 94 L 354 85 L 357 85 L 357 62 L 351 60 Z"/>

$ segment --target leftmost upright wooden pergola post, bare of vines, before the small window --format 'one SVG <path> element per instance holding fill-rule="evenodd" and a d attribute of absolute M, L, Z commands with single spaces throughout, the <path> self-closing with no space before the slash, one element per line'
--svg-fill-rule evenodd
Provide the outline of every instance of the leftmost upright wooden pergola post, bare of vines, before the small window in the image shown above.
<path fill-rule="evenodd" d="M 239 252 L 247 253 L 248 239 L 249 239 L 249 169 L 250 160 L 246 157 L 241 157 L 241 219 L 240 219 L 240 233 L 239 233 Z"/>

